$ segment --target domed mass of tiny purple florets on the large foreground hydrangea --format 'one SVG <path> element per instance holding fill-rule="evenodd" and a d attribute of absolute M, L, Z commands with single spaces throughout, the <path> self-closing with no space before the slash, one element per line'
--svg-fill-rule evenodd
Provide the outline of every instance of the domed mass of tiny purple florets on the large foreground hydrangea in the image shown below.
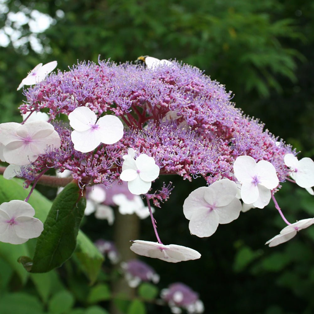
<path fill-rule="evenodd" d="M 52 167 L 72 171 L 81 186 L 119 181 L 122 156 L 133 148 L 136 156 L 147 154 L 160 167 L 160 175 L 177 174 L 183 179 L 203 177 L 208 184 L 222 178 L 236 181 L 233 163 L 249 155 L 267 160 L 279 181 L 289 175 L 284 155 L 293 153 L 258 121 L 243 115 L 230 101 L 225 87 L 198 68 L 173 62 L 155 69 L 134 64 L 83 62 L 67 72 L 51 74 L 45 81 L 24 90 L 27 111 L 49 110 L 50 122 L 62 144 L 56 151 L 40 155 L 21 175 L 30 184 L 39 171 Z M 100 144 L 95 151 L 80 153 L 73 148 L 68 116 L 87 106 L 100 117 L 118 116 L 124 135 L 112 145 Z M 62 117 L 63 116 L 63 117 Z M 59 122 L 58 120 L 66 122 Z M 156 187 L 158 188 L 158 187 Z M 169 197 L 171 186 L 152 192 L 157 200 Z"/>

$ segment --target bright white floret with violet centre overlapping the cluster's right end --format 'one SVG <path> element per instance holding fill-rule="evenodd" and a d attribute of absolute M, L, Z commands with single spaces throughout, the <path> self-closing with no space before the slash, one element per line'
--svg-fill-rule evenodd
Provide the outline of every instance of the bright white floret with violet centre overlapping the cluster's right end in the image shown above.
<path fill-rule="evenodd" d="M 256 163 L 251 156 L 239 156 L 233 164 L 233 170 L 242 184 L 242 201 L 264 208 L 270 201 L 271 190 L 279 184 L 275 167 L 266 160 Z"/>

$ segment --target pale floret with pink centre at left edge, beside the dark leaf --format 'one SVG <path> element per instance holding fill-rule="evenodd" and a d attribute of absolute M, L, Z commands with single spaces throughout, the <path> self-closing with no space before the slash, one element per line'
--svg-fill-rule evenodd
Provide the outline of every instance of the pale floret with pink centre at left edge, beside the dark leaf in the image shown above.
<path fill-rule="evenodd" d="M 13 200 L 0 205 L 0 241 L 21 244 L 37 238 L 44 230 L 43 223 L 33 216 L 34 208 L 24 201 Z"/>

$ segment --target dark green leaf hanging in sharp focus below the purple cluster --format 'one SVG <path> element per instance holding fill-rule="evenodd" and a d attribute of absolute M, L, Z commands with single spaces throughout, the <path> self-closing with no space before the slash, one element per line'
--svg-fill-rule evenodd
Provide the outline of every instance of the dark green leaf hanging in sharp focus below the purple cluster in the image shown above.
<path fill-rule="evenodd" d="M 86 200 L 73 182 L 57 195 L 44 223 L 44 231 L 37 239 L 32 273 L 44 273 L 60 267 L 71 257 L 85 206 Z"/>

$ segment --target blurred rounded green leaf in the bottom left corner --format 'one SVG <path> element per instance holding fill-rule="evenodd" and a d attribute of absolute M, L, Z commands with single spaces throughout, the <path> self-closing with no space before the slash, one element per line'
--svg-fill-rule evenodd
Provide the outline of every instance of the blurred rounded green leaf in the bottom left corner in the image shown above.
<path fill-rule="evenodd" d="M 35 296 L 17 292 L 2 295 L 0 298 L 0 311 L 3 314 L 42 314 L 43 307 Z"/>

